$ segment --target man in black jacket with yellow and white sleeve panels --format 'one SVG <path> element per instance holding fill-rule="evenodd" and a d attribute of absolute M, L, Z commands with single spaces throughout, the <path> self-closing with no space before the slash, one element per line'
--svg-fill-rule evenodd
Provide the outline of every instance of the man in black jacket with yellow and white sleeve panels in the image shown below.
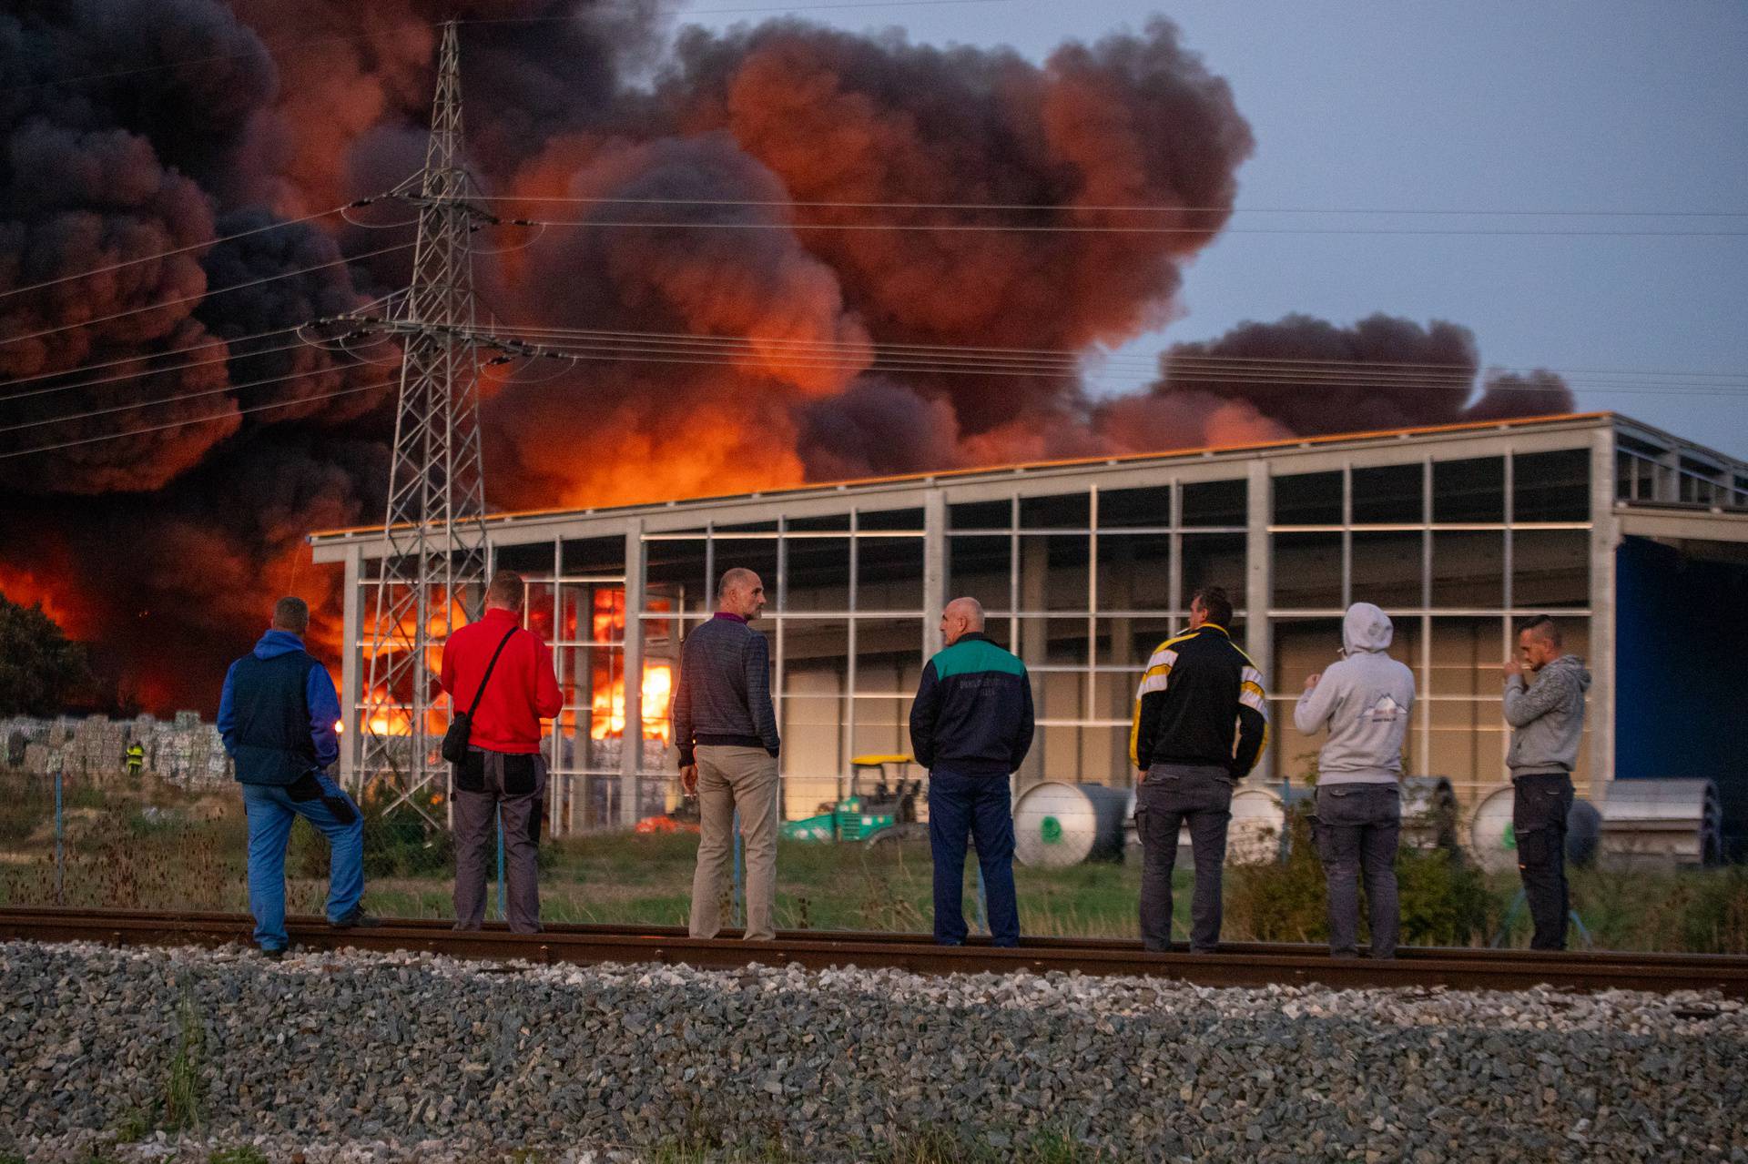
<path fill-rule="evenodd" d="M 1196 858 L 1190 949 L 1211 951 L 1220 942 L 1220 867 L 1232 783 L 1250 774 L 1269 739 L 1262 673 L 1232 645 L 1231 624 L 1225 591 L 1196 591 L 1189 633 L 1154 650 L 1134 694 L 1129 759 L 1141 773 L 1134 800 L 1141 944 L 1152 951 L 1171 947 L 1171 870 L 1183 821 Z"/>

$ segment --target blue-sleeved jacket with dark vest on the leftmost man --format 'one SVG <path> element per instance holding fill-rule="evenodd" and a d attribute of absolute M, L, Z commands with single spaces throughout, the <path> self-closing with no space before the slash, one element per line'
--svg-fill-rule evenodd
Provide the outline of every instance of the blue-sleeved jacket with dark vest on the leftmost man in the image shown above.
<path fill-rule="evenodd" d="M 267 631 L 231 664 L 218 734 L 245 785 L 290 785 L 339 759 L 339 696 L 327 668 L 290 631 Z"/>

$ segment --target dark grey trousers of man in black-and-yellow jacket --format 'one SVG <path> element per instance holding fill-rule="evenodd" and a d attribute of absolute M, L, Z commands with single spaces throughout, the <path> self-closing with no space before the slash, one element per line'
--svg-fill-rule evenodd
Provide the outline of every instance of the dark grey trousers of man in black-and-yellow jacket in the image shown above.
<path fill-rule="evenodd" d="M 1141 946 L 1171 949 L 1171 872 L 1178 863 L 1178 828 L 1190 825 L 1196 897 L 1190 900 L 1190 949 L 1220 944 L 1220 870 L 1225 827 L 1232 820 L 1232 776 L 1211 764 L 1155 764 L 1134 793 L 1134 832 L 1141 839 Z"/>

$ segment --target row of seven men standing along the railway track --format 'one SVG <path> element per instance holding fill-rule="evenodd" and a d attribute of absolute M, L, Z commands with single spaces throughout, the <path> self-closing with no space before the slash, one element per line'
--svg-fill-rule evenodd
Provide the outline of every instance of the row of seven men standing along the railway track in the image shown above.
<path fill-rule="evenodd" d="M 523 592 L 519 575 L 496 573 L 486 587 L 484 617 L 454 631 L 442 652 L 442 687 L 456 718 L 467 722 L 465 752 L 453 769 L 458 930 L 482 923 L 495 821 L 502 821 L 509 863 L 510 930 L 540 928 L 537 856 L 547 781 L 540 722 L 558 715 L 563 699 L 551 648 L 523 627 Z M 725 572 L 715 615 L 682 648 L 671 720 L 682 786 L 699 800 L 692 937 L 722 930 L 736 827 L 746 849 L 745 937 L 776 937 L 781 738 L 769 647 L 750 626 L 764 605 L 757 573 Z M 1201 953 L 1218 946 L 1232 788 L 1267 746 L 1262 673 L 1232 643 L 1231 620 L 1225 591 L 1196 591 L 1189 629 L 1154 650 L 1134 699 L 1129 752 L 1140 776 L 1140 928 L 1152 951 L 1171 946 L 1171 879 L 1183 827 L 1196 863 L 1189 947 Z M 267 956 L 287 947 L 285 849 L 295 816 L 308 818 L 330 842 L 329 923 L 378 925 L 360 907 L 362 814 L 327 773 L 339 757 L 341 710 L 327 669 L 304 650 L 308 622 L 301 599 L 280 599 L 269 631 L 225 675 L 218 710 L 218 729 L 243 785 L 250 911 L 255 942 Z M 930 773 L 935 940 L 958 946 L 967 939 L 963 879 L 974 842 L 991 940 L 1017 946 L 1009 781 L 1033 741 L 1031 680 L 1016 655 L 984 634 L 984 612 L 974 598 L 946 605 L 940 636 L 944 647 L 923 668 L 909 720 L 912 755 Z M 1328 732 L 1318 760 L 1316 839 L 1335 956 L 1358 953 L 1362 876 L 1370 905 L 1369 953 L 1391 958 L 1397 947 L 1398 781 L 1414 675 L 1388 655 L 1391 636 L 1383 610 L 1370 603 L 1349 606 L 1342 657 L 1306 680 L 1294 708 L 1301 732 Z M 1536 949 L 1564 947 L 1566 813 L 1589 680 L 1582 661 L 1561 652 L 1550 619 L 1521 627 L 1517 657 L 1505 664 L 1505 718 L 1512 725 L 1507 764 Z"/>

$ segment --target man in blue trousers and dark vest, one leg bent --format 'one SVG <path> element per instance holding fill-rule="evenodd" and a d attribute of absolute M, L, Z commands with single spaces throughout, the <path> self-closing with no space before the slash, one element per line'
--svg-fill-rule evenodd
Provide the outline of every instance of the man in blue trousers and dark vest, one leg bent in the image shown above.
<path fill-rule="evenodd" d="M 309 606 L 281 598 L 273 627 L 231 664 L 218 699 L 218 734 L 243 785 L 248 813 L 248 909 L 255 944 L 285 956 L 285 844 L 302 816 L 329 839 L 329 925 L 371 926 L 364 897 L 364 820 L 323 769 L 339 759 L 339 696 L 327 668 L 304 650 Z"/>

